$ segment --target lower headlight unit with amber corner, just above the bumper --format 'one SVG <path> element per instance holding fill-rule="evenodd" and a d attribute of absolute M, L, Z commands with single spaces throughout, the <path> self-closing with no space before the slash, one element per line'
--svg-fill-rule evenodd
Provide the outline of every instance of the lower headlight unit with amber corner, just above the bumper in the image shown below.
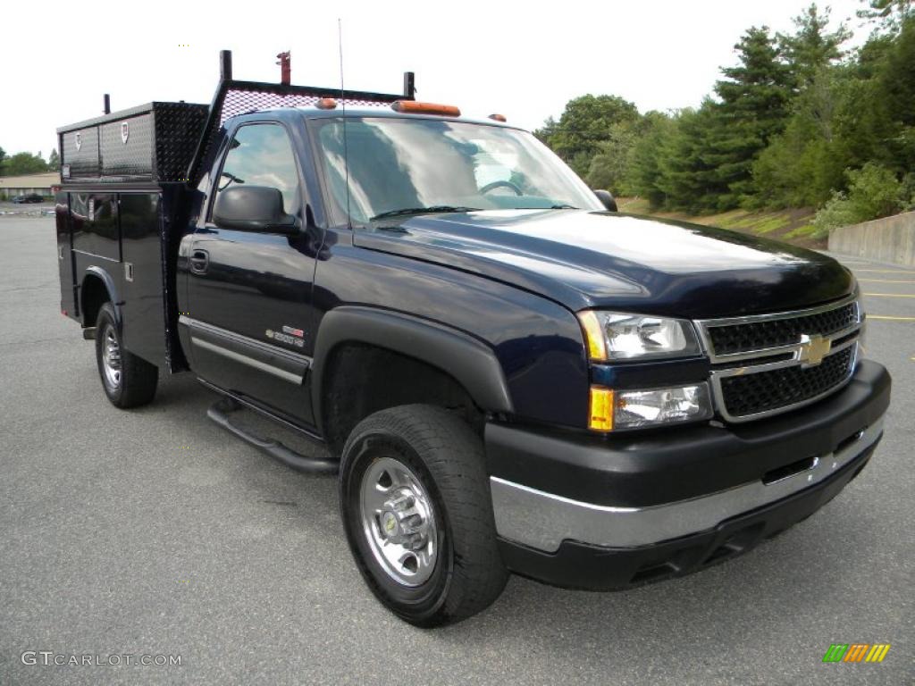
<path fill-rule="evenodd" d="M 697 422 L 711 419 L 712 414 L 705 382 L 651 391 L 614 391 L 592 386 L 588 426 L 594 431 L 610 432 Z"/>

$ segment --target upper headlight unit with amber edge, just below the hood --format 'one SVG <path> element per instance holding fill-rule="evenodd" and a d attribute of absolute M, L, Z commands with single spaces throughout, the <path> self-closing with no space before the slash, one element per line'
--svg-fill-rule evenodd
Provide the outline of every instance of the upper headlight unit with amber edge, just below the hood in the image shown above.
<path fill-rule="evenodd" d="M 661 316 L 585 310 L 578 313 L 592 361 L 690 357 L 700 354 L 691 322 Z"/>

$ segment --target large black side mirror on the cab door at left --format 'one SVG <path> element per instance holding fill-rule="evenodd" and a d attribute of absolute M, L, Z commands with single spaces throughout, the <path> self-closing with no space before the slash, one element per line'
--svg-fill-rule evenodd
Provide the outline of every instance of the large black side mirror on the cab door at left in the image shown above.
<path fill-rule="evenodd" d="M 277 188 L 236 186 L 216 197 L 213 223 L 221 229 L 281 233 L 299 231 L 299 222 L 283 209 L 283 194 Z"/>

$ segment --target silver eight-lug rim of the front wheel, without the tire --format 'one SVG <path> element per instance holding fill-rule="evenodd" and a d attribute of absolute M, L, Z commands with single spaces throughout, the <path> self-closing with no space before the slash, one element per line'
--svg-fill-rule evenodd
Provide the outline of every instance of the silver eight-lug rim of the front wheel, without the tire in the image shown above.
<path fill-rule="evenodd" d="M 382 569 L 398 584 L 418 586 L 432 575 L 438 530 L 432 498 L 402 462 L 379 457 L 362 475 L 362 532 Z"/>

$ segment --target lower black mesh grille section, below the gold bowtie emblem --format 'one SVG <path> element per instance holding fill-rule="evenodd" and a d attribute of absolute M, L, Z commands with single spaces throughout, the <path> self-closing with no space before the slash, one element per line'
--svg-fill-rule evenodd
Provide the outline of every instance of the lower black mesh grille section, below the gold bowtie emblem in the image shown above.
<path fill-rule="evenodd" d="M 846 381 L 851 373 L 856 346 L 829 355 L 815 367 L 781 367 L 721 379 L 721 395 L 727 414 L 746 417 L 796 405 L 817 398 Z"/>

